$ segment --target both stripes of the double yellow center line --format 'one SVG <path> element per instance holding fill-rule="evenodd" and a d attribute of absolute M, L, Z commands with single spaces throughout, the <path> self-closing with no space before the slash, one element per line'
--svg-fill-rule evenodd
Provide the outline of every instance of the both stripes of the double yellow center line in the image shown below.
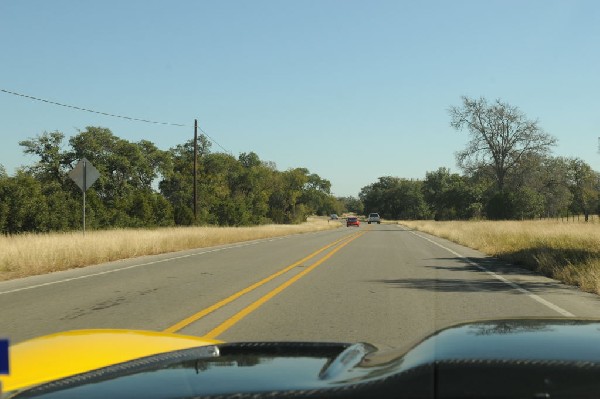
<path fill-rule="evenodd" d="M 335 247 L 333 250 L 331 250 L 329 253 L 327 253 L 325 256 L 323 256 L 321 259 L 319 259 L 318 261 L 316 261 L 315 263 L 313 263 L 310 267 L 307 267 L 306 269 L 304 269 L 302 272 L 294 275 L 292 278 L 290 278 L 289 280 L 285 281 L 284 283 L 282 283 L 281 285 L 279 285 L 277 288 L 273 289 L 272 291 L 268 292 L 267 294 L 265 294 L 264 296 L 262 296 L 260 299 L 256 300 L 255 302 L 253 302 L 252 304 L 248 305 L 247 307 L 245 307 L 244 309 L 240 310 L 238 313 L 236 313 L 235 315 L 233 315 L 232 317 L 230 317 L 229 319 L 225 320 L 223 323 L 221 323 L 220 325 L 218 325 L 217 327 L 215 327 L 214 329 L 212 329 L 211 331 L 208 332 L 208 334 L 204 335 L 204 338 L 207 339 L 214 339 L 216 337 L 218 337 L 219 335 L 221 335 L 223 332 L 225 332 L 226 330 L 228 330 L 229 328 L 231 328 L 234 324 L 236 324 L 237 322 L 239 322 L 240 320 L 242 320 L 244 317 L 246 317 L 247 315 L 249 315 L 250 313 L 252 313 L 253 311 L 255 311 L 256 309 L 258 309 L 260 306 L 262 306 L 265 302 L 267 302 L 269 299 L 273 298 L 275 295 L 279 294 L 280 292 L 282 292 L 283 290 L 285 290 L 286 288 L 288 288 L 290 285 L 294 284 L 296 281 L 300 280 L 302 277 L 304 277 L 305 275 L 307 275 L 308 273 L 310 273 L 312 270 L 314 270 L 317 266 L 319 266 L 320 264 L 322 264 L 323 262 L 325 262 L 327 259 L 331 258 L 337 251 L 339 251 L 340 249 L 342 249 L 343 247 L 345 247 L 346 245 L 348 245 L 350 242 L 354 241 L 355 239 L 357 239 L 358 237 L 362 236 L 363 234 L 365 234 L 365 232 L 358 232 L 358 233 L 354 233 L 350 236 L 346 236 L 343 238 L 340 238 L 339 240 L 336 240 L 330 244 L 325 245 L 324 247 L 316 250 L 315 252 L 307 255 L 306 257 L 300 259 L 297 262 L 292 263 L 289 266 L 286 266 L 285 268 L 279 270 L 276 273 L 271 274 L 268 277 L 265 277 L 264 279 L 244 288 L 241 291 L 236 292 L 235 294 L 215 303 L 212 306 L 209 306 L 201 311 L 199 311 L 198 313 L 195 313 L 183 320 L 181 320 L 180 322 L 172 325 L 171 327 L 167 328 L 164 330 L 164 332 L 168 332 L 168 333 L 174 333 L 177 332 L 181 329 L 183 329 L 184 327 L 194 323 L 195 321 L 200 320 L 201 318 L 203 318 L 204 316 L 214 312 L 215 310 L 222 308 L 223 306 L 235 301 L 236 299 L 240 298 L 241 296 L 257 289 L 258 287 L 268 283 L 269 281 L 275 279 L 276 277 L 281 276 L 282 274 L 285 274 L 287 272 L 289 272 L 290 270 L 294 269 L 295 267 L 303 264 L 304 262 L 318 256 L 319 254 L 327 251 L 328 249 Z M 337 245 L 337 246 L 336 246 Z"/>

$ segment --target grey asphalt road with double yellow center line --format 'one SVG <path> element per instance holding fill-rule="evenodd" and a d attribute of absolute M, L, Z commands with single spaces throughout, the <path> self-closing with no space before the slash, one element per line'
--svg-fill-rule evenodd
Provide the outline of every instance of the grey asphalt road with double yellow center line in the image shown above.
<path fill-rule="evenodd" d="M 0 336 L 133 328 L 405 347 L 462 321 L 600 318 L 600 297 L 396 225 L 138 258 L 0 283 Z"/>

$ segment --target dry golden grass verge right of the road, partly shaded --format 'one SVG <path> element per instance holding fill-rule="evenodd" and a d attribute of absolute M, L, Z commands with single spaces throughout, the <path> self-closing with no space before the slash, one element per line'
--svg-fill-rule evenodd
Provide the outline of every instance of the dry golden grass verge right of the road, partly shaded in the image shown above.
<path fill-rule="evenodd" d="M 559 221 L 402 221 L 583 291 L 600 294 L 600 227 Z"/>

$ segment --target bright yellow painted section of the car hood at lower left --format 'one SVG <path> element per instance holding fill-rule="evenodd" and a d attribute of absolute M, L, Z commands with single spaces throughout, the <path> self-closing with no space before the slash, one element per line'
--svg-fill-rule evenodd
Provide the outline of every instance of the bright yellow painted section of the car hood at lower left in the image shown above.
<path fill-rule="evenodd" d="M 0 376 L 0 392 L 11 392 L 144 356 L 220 342 L 136 330 L 76 330 L 45 335 L 9 348 L 10 374 Z"/>

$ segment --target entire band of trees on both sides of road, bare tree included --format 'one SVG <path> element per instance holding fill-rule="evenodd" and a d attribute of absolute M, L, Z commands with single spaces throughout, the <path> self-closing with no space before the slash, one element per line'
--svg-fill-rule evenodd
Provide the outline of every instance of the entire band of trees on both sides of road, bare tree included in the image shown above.
<path fill-rule="evenodd" d="M 45 132 L 19 144 L 36 157 L 9 176 L 0 165 L 0 233 L 81 227 L 81 192 L 68 177 L 88 159 L 100 172 L 87 191 L 90 228 L 299 223 L 308 215 L 378 212 L 386 219 L 532 219 L 600 213 L 600 174 L 579 158 L 551 154 L 556 139 L 517 107 L 463 97 L 450 125 L 469 136 L 456 153 L 462 173 L 446 167 L 424 179 L 383 176 L 358 197 L 334 197 L 329 180 L 306 168 L 277 170 L 254 152 L 212 152 L 198 138 L 193 210 L 194 142 L 169 150 L 87 127 L 65 143 Z"/>

